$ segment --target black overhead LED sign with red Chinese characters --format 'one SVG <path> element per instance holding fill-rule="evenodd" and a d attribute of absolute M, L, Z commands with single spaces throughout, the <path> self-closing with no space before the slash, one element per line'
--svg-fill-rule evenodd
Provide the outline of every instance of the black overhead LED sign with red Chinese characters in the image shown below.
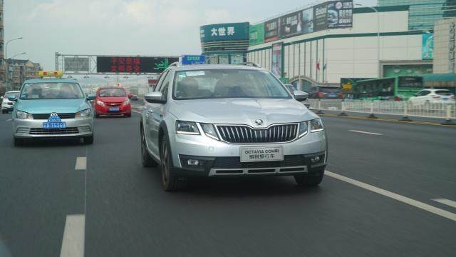
<path fill-rule="evenodd" d="M 160 73 L 179 57 L 97 56 L 97 72 Z"/>

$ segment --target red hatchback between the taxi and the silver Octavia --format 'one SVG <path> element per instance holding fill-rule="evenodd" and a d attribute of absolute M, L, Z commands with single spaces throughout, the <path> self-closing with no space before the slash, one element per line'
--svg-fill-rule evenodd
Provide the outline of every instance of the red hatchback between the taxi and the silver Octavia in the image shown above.
<path fill-rule="evenodd" d="M 123 115 L 131 116 L 131 104 L 128 95 L 120 86 L 100 87 L 94 101 L 95 116 Z"/>

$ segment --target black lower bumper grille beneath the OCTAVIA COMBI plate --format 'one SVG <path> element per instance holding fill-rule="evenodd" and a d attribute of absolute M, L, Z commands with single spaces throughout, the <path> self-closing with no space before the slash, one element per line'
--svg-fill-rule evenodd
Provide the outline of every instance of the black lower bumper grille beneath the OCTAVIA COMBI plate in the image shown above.
<path fill-rule="evenodd" d="M 306 166 L 304 155 L 284 156 L 284 161 L 241 162 L 239 157 L 217 157 L 212 168 L 279 168 Z"/>

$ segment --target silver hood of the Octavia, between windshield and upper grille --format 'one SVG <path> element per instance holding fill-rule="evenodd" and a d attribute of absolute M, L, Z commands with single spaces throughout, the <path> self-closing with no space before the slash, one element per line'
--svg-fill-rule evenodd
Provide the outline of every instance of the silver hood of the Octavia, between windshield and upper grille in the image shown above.
<path fill-rule="evenodd" d="M 245 124 L 257 126 L 261 119 L 266 127 L 271 124 L 308 121 L 318 116 L 294 99 L 198 99 L 175 100 L 170 114 L 181 121 L 209 124 Z"/>

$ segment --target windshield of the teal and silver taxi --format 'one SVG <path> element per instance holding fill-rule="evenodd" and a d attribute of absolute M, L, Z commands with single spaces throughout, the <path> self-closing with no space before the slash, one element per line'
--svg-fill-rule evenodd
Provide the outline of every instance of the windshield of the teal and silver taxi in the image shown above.
<path fill-rule="evenodd" d="M 77 83 L 43 82 L 24 84 L 21 100 L 83 99 L 84 94 Z"/>

